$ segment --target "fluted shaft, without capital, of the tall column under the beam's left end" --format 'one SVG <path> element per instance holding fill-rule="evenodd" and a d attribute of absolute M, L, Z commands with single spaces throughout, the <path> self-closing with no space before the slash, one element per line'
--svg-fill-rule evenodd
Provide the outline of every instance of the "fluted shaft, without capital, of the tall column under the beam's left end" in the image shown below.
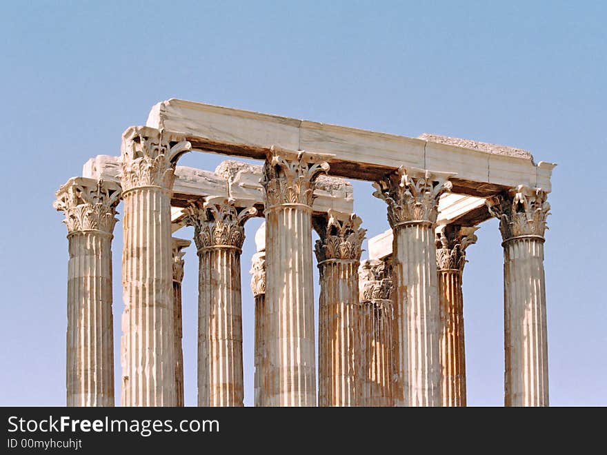
<path fill-rule="evenodd" d="M 174 406 L 175 335 L 170 196 L 123 194 L 123 406 Z"/>

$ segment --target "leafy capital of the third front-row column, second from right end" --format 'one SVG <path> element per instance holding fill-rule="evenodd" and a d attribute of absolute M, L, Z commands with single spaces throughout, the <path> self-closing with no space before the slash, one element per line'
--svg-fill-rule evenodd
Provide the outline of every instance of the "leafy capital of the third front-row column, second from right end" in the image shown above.
<path fill-rule="evenodd" d="M 373 196 L 388 204 L 392 229 L 407 223 L 430 223 L 437 220 L 439 197 L 450 191 L 448 181 L 454 174 L 430 172 L 401 166 L 384 179 L 373 183 Z"/>

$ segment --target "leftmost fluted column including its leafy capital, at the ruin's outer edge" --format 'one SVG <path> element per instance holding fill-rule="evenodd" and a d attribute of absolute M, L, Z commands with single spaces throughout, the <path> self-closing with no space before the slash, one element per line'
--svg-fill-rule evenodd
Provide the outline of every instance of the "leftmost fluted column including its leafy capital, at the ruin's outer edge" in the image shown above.
<path fill-rule="evenodd" d="M 54 208 L 66 215 L 68 406 L 114 406 L 112 238 L 120 186 L 70 179 L 57 191 Z"/>

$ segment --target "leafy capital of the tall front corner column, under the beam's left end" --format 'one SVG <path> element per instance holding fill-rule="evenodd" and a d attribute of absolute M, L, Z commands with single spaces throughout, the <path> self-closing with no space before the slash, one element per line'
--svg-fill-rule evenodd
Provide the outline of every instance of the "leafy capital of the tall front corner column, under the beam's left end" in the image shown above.
<path fill-rule="evenodd" d="M 177 134 L 132 126 L 122 135 L 120 179 L 123 191 L 146 186 L 170 190 L 175 164 L 192 146 Z"/>

